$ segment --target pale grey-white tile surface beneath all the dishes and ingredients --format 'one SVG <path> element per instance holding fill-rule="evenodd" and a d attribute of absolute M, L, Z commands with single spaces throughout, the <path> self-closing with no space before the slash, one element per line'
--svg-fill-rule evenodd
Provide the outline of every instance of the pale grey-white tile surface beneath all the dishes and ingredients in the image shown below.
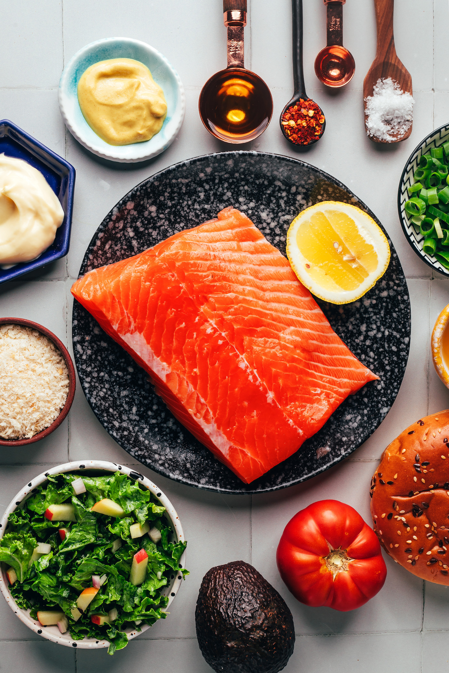
<path fill-rule="evenodd" d="M 376 145 L 364 131 L 362 87 L 376 51 L 372 0 L 349 1 L 343 9 L 343 43 L 356 70 L 351 83 L 330 92 L 314 75 L 314 58 L 326 42 L 325 7 L 304 3 L 306 90 L 326 114 L 326 133 L 310 150 L 296 151 L 279 131 L 279 114 L 291 98 L 291 10 L 289 0 L 249 0 L 245 31 L 246 65 L 271 87 L 273 120 L 256 141 L 240 149 L 281 153 L 310 162 L 347 184 L 382 221 L 399 254 L 412 307 L 412 338 L 407 371 L 384 423 L 349 460 L 299 487 L 279 493 L 230 497 L 197 491 L 151 476 L 174 503 L 188 539 L 183 583 L 166 621 L 109 657 L 45 643 L 0 602 L 0 670 L 36 672 L 132 669 L 203 673 L 195 638 L 195 604 L 201 579 L 213 565 L 242 559 L 252 563 L 284 596 L 293 612 L 296 648 L 287 673 L 338 668 L 365 673 L 449 671 L 448 591 L 424 583 L 386 559 L 384 589 L 356 612 L 338 613 L 302 606 L 281 582 L 275 550 L 283 527 L 298 509 L 333 497 L 355 507 L 369 521 L 370 476 L 382 451 L 417 417 L 449 406 L 449 391 L 429 359 L 429 334 L 449 303 L 449 280 L 431 273 L 405 240 L 396 208 L 403 166 L 433 128 L 447 122 L 449 7 L 447 0 L 396 0 L 394 32 L 399 58 L 413 79 L 415 114 L 411 137 L 395 146 Z M 70 286 L 96 228 L 116 201 L 158 170 L 189 157 L 234 149 L 205 131 L 198 114 L 201 86 L 226 65 L 226 30 L 221 3 L 210 0 L 3 0 L 0 40 L 0 117 L 10 118 L 77 170 L 71 249 L 20 283 L 0 286 L 0 316 L 22 316 L 48 326 L 71 349 Z M 170 148 L 144 165 L 99 160 L 66 132 L 57 106 L 63 63 L 83 45 L 108 36 L 131 36 L 156 46 L 172 62 L 186 87 L 184 126 Z M 435 52 L 435 57 L 434 57 Z M 1 382 L 0 382 L 1 384 Z M 46 466 L 88 457 L 137 464 L 104 431 L 80 386 L 68 419 L 48 439 L 14 454 L 0 452 L 0 509 Z M 138 464 L 140 465 L 140 464 Z M 421 669 L 422 639 L 422 669 Z M 17 641 L 21 641 L 20 645 Z M 381 653 L 381 658 L 379 658 Z"/>

